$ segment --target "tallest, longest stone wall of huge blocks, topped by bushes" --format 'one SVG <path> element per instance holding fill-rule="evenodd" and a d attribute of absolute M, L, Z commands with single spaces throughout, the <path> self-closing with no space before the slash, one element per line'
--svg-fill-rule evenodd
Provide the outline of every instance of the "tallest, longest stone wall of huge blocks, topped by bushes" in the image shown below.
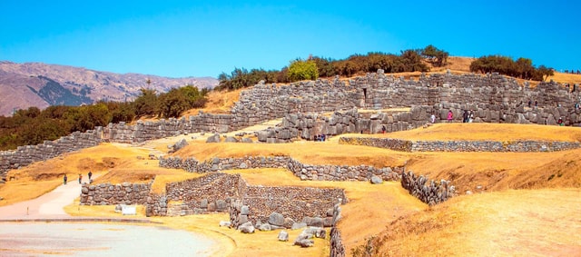
<path fill-rule="evenodd" d="M 578 126 L 581 110 L 574 106 L 580 96 L 579 92 L 570 93 L 565 86 L 554 82 L 531 88 L 499 74 L 431 74 L 415 81 L 395 78 L 379 70 L 347 82 L 335 78 L 290 85 L 257 84 L 242 91 L 231 114 L 200 113 L 181 119 L 138 121 L 134 125 L 109 124 L 53 142 L 0 152 L 0 176 L 4 177 L 10 169 L 101 142 L 141 143 L 184 133 L 224 133 L 285 116 L 287 119 L 281 128 L 261 134 L 261 138 L 266 138 L 263 142 L 288 142 L 296 137 L 312 139 L 319 133 L 379 133 L 383 125 L 388 132 L 405 130 L 424 124 L 432 113 L 437 114 L 438 122 L 446 120 L 448 110 L 455 114 L 455 121 L 461 119 L 463 110 L 473 110 L 475 122 L 556 124 L 558 118 L 563 118 L 566 125 Z M 529 107 L 528 101 L 537 101 L 537 106 Z M 412 107 L 409 113 L 369 117 L 353 111 L 336 113 L 334 117 L 320 115 L 353 108 L 380 110 L 412 105 L 421 107 Z"/>

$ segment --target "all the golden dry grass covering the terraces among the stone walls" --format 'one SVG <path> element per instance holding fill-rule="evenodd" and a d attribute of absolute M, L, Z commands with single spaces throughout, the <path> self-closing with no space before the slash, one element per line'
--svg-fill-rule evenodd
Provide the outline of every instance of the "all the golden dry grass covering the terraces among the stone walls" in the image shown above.
<path fill-rule="evenodd" d="M 452 66 L 455 73 L 468 72 L 465 59 L 451 59 L 450 63 L 458 65 Z M 569 75 L 556 74 L 555 79 L 581 82 L 581 75 Z M 202 111 L 226 112 L 239 94 L 212 93 L 209 107 Z M 189 114 L 198 111 L 192 110 Z M 523 124 L 436 124 L 411 131 L 365 136 L 411 140 L 579 142 L 581 129 Z M 400 153 L 339 144 L 338 137 L 323 143 L 204 143 L 204 136 L 189 134 L 155 140 L 139 147 L 103 143 L 11 171 L 9 174 L 17 179 L 0 185 L 0 197 L 4 198 L 0 205 L 33 199 L 62 183 L 64 173 L 69 175 L 69 180 L 74 180 L 78 173 L 86 175 L 89 170 L 100 175 L 95 183 L 145 183 L 155 177 L 153 191 L 162 192 L 165 183 L 200 176 L 163 169 L 158 167 L 157 161 L 147 159 L 150 153 L 167 154 L 167 145 L 182 138 L 189 145 L 169 155 L 195 157 L 199 161 L 216 156 L 289 155 L 301 163 L 311 164 L 377 167 L 405 164 L 414 173 L 437 180 L 447 179 L 457 186 L 457 197 L 428 207 L 410 196 L 399 183 L 303 182 L 282 169 L 225 172 L 241 173 L 248 183 L 257 185 L 344 188 L 350 203 L 342 206 L 339 226 L 348 255 L 355 249 L 355 252 L 369 252 L 372 256 L 581 256 L 581 150 Z M 467 191 L 472 194 L 466 194 Z M 79 206 L 78 202 L 65 209 L 72 215 L 121 215 L 113 212 L 113 206 Z M 143 208 L 138 209 L 138 216 L 144 217 Z M 163 226 L 211 237 L 217 242 L 215 256 L 329 256 L 328 240 L 317 240 L 315 247 L 302 249 L 292 246 L 291 242 L 278 242 L 278 232 L 249 235 L 219 227 L 220 221 L 228 220 L 223 213 L 152 220 L 162 222 Z M 291 231 L 291 240 L 299 232 Z M 369 239 L 372 240 L 368 242 Z"/>

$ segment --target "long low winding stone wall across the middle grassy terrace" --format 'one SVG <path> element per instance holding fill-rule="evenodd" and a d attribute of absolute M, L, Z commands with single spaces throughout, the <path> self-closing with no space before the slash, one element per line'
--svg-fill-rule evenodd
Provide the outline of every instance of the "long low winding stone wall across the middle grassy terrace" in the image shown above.
<path fill-rule="evenodd" d="M 300 163 L 289 156 L 246 156 L 241 158 L 212 158 L 199 163 L 194 158 L 160 158 L 160 167 L 184 169 L 191 173 L 209 173 L 223 170 L 284 168 L 301 180 L 310 181 L 369 181 L 377 175 L 386 181 L 399 180 L 402 166 L 377 168 L 369 165 L 314 165 Z"/>

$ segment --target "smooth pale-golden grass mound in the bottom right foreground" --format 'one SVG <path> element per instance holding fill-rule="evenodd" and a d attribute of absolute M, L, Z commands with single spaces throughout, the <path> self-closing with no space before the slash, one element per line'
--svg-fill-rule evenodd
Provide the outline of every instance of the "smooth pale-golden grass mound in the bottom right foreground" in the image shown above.
<path fill-rule="evenodd" d="M 578 256 L 581 190 L 460 196 L 391 222 L 378 256 Z M 383 254 L 383 255 L 381 255 Z"/>

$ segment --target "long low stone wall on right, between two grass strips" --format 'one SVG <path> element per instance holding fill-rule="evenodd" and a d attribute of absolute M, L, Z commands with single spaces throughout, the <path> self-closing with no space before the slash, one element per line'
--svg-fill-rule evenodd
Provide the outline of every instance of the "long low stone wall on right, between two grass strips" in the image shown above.
<path fill-rule="evenodd" d="M 378 137 L 341 137 L 339 143 L 367 145 L 402 152 L 553 152 L 581 148 L 578 142 L 548 141 L 410 141 Z"/>

